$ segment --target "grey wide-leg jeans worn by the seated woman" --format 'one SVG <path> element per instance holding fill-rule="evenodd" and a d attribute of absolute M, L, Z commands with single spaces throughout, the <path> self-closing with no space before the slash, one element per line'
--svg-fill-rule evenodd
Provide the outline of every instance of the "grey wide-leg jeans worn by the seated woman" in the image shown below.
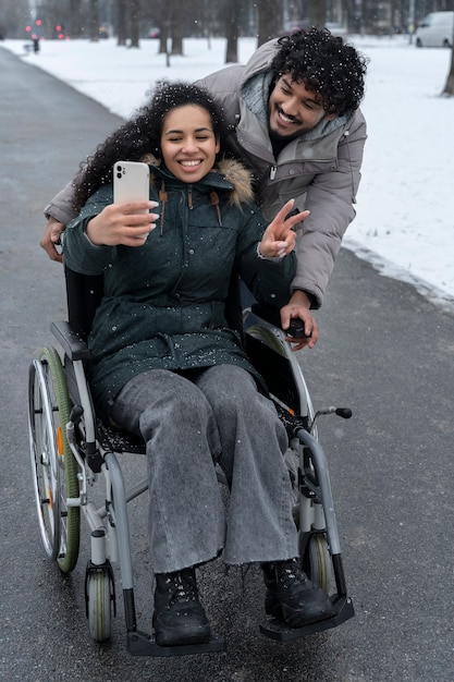
<path fill-rule="evenodd" d="M 213 559 L 228 564 L 296 557 L 297 533 L 274 405 L 243 368 L 184 376 L 155 369 L 131 379 L 112 417 L 147 443 L 155 573 Z M 214 470 L 230 484 L 228 520 Z"/>

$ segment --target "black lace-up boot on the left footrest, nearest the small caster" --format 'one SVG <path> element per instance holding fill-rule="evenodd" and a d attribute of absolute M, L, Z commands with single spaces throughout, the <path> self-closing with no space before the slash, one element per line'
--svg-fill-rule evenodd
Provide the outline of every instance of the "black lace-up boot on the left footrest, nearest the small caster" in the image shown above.
<path fill-rule="evenodd" d="M 210 641 L 210 625 L 198 600 L 193 568 L 175 573 L 156 574 L 152 624 L 159 646 L 203 644 Z"/>

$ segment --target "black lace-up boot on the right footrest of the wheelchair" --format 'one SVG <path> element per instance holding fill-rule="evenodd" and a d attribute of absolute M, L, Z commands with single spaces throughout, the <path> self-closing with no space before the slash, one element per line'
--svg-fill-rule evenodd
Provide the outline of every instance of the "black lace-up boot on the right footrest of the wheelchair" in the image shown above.
<path fill-rule="evenodd" d="M 335 614 L 320 587 L 309 581 L 296 559 L 262 563 L 267 594 L 265 611 L 290 628 L 303 628 Z"/>

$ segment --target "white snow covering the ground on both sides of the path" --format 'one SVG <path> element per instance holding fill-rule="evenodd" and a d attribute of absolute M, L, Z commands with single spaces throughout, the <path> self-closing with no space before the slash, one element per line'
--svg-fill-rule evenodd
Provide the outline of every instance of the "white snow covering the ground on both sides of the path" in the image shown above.
<path fill-rule="evenodd" d="M 357 218 L 344 245 L 454 310 L 454 98 L 440 96 L 451 51 L 417 49 L 407 37 L 351 41 L 370 59 L 361 107 L 369 137 Z M 125 118 L 157 80 L 193 81 L 225 65 L 222 38 L 186 39 L 184 56 L 169 63 L 157 40 L 143 40 L 140 49 L 118 47 L 113 38 L 48 40 L 39 53 L 26 52 L 24 40 L 0 47 Z M 255 47 L 254 38 L 242 38 L 240 61 Z"/>

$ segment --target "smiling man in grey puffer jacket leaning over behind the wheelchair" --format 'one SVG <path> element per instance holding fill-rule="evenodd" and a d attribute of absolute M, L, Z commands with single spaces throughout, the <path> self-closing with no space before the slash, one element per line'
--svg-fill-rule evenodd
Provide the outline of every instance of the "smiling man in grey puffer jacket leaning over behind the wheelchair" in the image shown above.
<path fill-rule="evenodd" d="M 355 217 L 366 122 L 359 109 L 367 59 L 314 27 L 270 40 L 246 64 L 228 66 L 200 82 L 223 110 L 229 145 L 254 175 L 256 203 L 272 220 L 289 198 L 309 209 L 297 244 L 297 270 L 290 301 L 281 309 L 283 329 L 300 318 L 317 343 L 310 309 L 324 292 L 345 230 Z M 56 242 L 74 217 L 66 185 L 46 206 L 41 246 L 61 256 Z M 295 349 L 300 345 L 295 345 Z"/>

